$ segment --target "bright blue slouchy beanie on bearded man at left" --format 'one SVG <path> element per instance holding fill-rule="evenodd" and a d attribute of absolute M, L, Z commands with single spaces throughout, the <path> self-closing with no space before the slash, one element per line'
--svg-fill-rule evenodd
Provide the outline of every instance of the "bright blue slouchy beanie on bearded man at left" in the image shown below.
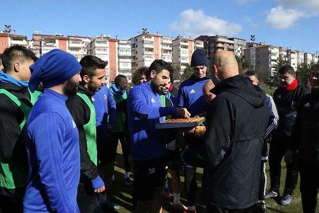
<path fill-rule="evenodd" d="M 60 49 L 53 49 L 41 56 L 30 66 L 32 72 L 28 87 L 31 92 L 39 86 L 53 87 L 69 80 L 81 71 L 82 67 L 77 59 Z"/>

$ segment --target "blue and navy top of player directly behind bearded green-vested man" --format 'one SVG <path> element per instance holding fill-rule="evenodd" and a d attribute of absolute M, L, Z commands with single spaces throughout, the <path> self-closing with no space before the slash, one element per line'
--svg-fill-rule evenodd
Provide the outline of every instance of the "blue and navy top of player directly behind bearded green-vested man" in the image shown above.
<path fill-rule="evenodd" d="M 111 134 L 107 124 L 112 127 L 116 123 L 116 103 L 110 90 L 103 85 L 102 88 L 92 96 L 96 113 L 96 138 L 106 138 Z"/>

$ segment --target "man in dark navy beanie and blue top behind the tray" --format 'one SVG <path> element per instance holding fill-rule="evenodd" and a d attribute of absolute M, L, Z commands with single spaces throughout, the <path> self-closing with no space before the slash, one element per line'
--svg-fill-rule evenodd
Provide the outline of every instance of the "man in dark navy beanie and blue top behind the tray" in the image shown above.
<path fill-rule="evenodd" d="M 208 61 L 202 49 L 196 49 L 191 56 L 190 66 L 192 67 L 193 74 L 184 80 L 178 89 L 177 106 L 185 107 L 192 117 L 205 112 L 208 104 L 202 95 L 202 88 L 209 78 L 206 77 Z M 196 146 L 197 141 L 191 135 L 185 135 L 187 145 Z M 184 170 L 185 177 L 185 192 L 187 196 L 188 213 L 195 213 L 195 198 L 197 191 L 196 182 L 196 167 L 194 165 L 186 165 Z"/>

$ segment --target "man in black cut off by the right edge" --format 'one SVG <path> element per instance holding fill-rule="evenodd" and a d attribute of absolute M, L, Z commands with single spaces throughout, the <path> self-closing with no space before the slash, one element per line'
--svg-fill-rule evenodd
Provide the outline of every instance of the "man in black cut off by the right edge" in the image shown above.
<path fill-rule="evenodd" d="M 315 213 L 319 189 L 319 64 L 310 77 L 311 93 L 305 95 L 297 108 L 292 139 L 285 154 L 287 166 L 294 163 L 298 150 L 300 192 L 304 213 Z"/>

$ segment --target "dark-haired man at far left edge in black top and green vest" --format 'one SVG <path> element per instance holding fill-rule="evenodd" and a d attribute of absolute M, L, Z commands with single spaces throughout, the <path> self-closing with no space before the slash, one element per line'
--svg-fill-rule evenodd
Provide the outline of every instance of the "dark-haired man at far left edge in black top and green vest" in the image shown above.
<path fill-rule="evenodd" d="M 0 71 L 0 212 L 22 212 L 28 171 L 24 124 L 40 94 L 28 91 L 29 66 L 37 57 L 18 45 L 1 56 L 5 68 Z"/>

